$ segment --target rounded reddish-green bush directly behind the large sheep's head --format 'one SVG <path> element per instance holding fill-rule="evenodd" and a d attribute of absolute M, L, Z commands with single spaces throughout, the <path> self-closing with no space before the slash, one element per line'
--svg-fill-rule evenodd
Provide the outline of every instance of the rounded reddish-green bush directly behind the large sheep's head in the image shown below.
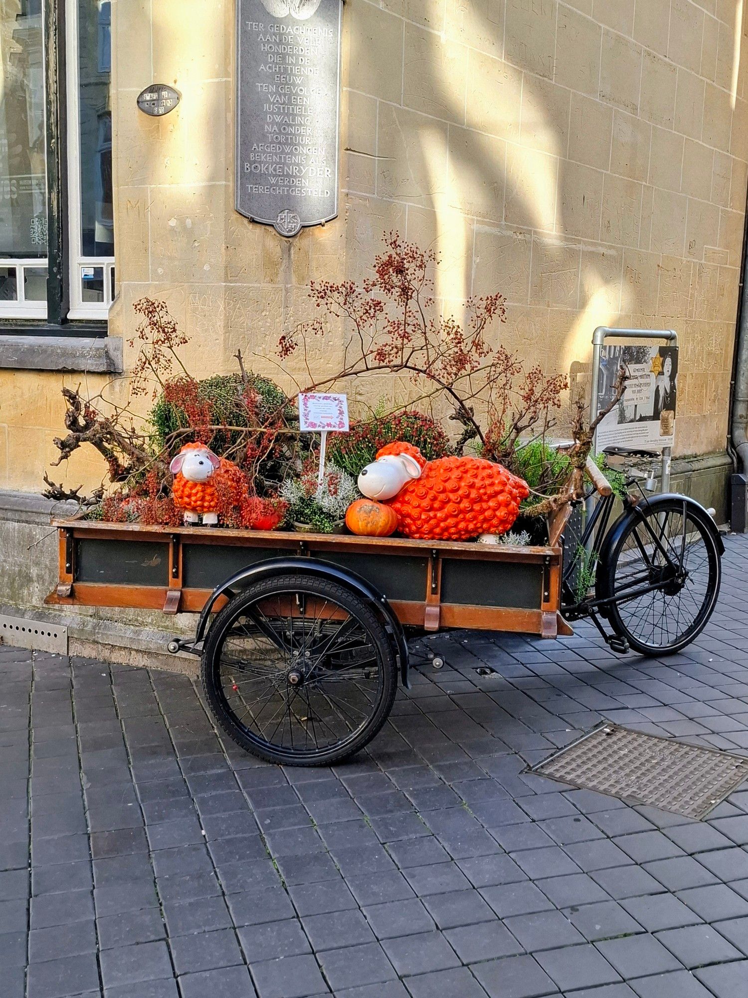
<path fill-rule="evenodd" d="M 381 447 L 396 440 L 418 447 L 427 461 L 434 461 L 450 452 L 449 440 L 442 427 L 431 416 L 415 409 L 354 423 L 349 433 L 331 435 L 327 448 L 330 459 L 357 478 L 361 469 L 375 459 Z"/>

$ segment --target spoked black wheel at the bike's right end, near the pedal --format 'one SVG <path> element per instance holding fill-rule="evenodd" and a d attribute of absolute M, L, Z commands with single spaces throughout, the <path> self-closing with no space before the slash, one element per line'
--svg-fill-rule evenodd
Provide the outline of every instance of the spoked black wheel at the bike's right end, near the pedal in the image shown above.
<path fill-rule="evenodd" d="M 720 552 L 709 515 L 683 499 L 632 510 L 602 575 L 608 620 L 640 655 L 673 655 L 703 631 L 719 595 Z"/>

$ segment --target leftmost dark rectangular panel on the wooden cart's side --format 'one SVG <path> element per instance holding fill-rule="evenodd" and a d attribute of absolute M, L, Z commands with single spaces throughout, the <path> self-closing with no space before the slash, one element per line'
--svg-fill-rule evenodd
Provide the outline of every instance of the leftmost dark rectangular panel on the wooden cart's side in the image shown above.
<path fill-rule="evenodd" d="M 169 544 L 158 541 L 76 541 L 76 582 L 168 586 Z"/>

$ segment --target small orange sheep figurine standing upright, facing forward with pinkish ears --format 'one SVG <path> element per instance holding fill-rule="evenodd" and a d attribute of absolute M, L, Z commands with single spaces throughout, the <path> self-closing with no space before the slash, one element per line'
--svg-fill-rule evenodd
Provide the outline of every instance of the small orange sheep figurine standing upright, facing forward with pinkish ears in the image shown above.
<path fill-rule="evenodd" d="M 170 469 L 175 505 L 184 511 L 185 523 L 214 527 L 223 506 L 241 506 L 247 497 L 244 476 L 233 461 L 217 457 L 202 443 L 186 443 Z M 220 493 L 220 494 L 219 494 Z"/>

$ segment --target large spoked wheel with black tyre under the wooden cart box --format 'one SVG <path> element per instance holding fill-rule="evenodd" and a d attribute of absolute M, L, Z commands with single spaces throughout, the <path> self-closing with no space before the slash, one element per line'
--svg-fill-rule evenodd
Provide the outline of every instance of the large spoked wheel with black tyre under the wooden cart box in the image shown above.
<path fill-rule="evenodd" d="M 223 731 L 270 762 L 329 765 L 363 749 L 397 693 L 387 632 L 365 602 L 326 579 L 251 583 L 203 646 L 205 698 Z"/>

